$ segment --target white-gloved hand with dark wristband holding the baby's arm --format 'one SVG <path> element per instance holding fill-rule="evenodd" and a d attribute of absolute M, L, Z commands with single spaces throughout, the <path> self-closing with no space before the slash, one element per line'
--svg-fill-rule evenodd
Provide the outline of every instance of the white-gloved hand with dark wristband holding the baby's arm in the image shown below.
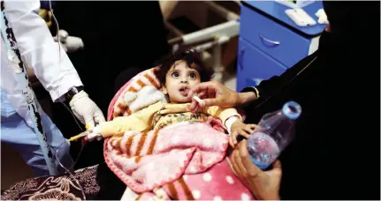
<path fill-rule="evenodd" d="M 101 109 L 96 106 L 93 100 L 88 98 L 88 93 L 81 91 L 75 94 L 69 104 L 72 108 L 72 113 L 81 123 L 88 124 L 90 128 L 94 127 L 95 123 L 105 122 Z"/>

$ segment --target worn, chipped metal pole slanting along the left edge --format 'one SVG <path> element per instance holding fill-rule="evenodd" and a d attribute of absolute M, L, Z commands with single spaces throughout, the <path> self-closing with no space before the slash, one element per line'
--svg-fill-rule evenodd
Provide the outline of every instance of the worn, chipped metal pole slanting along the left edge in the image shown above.
<path fill-rule="evenodd" d="M 4 0 L 1 1 L 1 27 L 2 27 L 2 37 L 7 45 L 8 51 L 3 52 L 2 54 L 14 54 L 17 58 L 14 58 L 13 61 L 17 61 L 19 63 L 14 64 L 15 78 L 17 78 L 18 86 L 22 90 L 25 100 L 27 100 L 27 108 L 29 110 L 29 115 L 32 120 L 34 132 L 38 138 L 40 146 L 42 148 L 43 157 L 45 158 L 46 164 L 49 169 L 50 175 L 57 175 L 57 169 L 55 168 L 53 153 L 51 153 L 50 146 L 48 144 L 48 139 L 46 134 L 42 128 L 42 119 L 39 113 L 39 105 L 34 95 L 34 91 L 29 86 L 29 80 L 27 78 L 27 68 L 25 63 L 22 62 L 21 55 L 19 53 L 19 48 L 17 47 L 17 41 L 11 29 L 11 24 L 9 20 L 6 18 Z M 13 61 L 9 61 L 10 63 Z M 22 133 L 20 133 L 22 135 Z"/>

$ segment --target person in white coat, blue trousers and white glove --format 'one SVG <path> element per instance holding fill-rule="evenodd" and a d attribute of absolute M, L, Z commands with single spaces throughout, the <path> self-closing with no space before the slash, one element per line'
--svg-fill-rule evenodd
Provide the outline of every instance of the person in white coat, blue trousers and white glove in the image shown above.
<path fill-rule="evenodd" d="M 53 40 L 45 21 L 38 15 L 40 2 L 5 0 L 2 5 L 23 62 L 33 69 L 42 86 L 50 93 L 51 99 L 54 102 L 69 101 L 73 114 L 81 123 L 94 126 L 95 123 L 104 122 L 102 111 L 85 93 L 80 77 L 65 50 L 61 47 L 62 50 L 59 51 L 58 43 Z M 18 149 L 23 159 L 33 168 L 35 175 L 49 175 L 42 147 L 33 129 L 34 120 L 31 119 L 27 100 L 20 89 L 22 86 L 19 87 L 15 76 L 14 63 L 17 57 L 11 56 L 6 40 L 2 34 L 1 140 Z M 56 153 L 57 146 L 65 142 L 65 138 L 41 107 L 38 108 L 48 144 L 52 153 Z M 64 145 L 58 153 L 59 160 L 65 167 L 72 165 L 69 146 Z M 57 161 L 55 168 L 57 172 L 62 172 Z"/>

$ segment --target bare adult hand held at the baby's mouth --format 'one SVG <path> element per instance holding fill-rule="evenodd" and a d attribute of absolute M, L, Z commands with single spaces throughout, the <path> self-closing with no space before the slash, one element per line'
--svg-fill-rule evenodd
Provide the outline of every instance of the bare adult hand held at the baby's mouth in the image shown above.
<path fill-rule="evenodd" d="M 190 112 L 198 112 L 200 108 L 218 106 L 221 108 L 232 108 L 238 105 L 239 94 L 233 92 L 221 83 L 213 80 L 209 82 L 203 82 L 197 86 L 194 86 L 187 95 L 188 98 L 192 98 L 194 94 L 203 100 L 201 105 L 196 100 L 192 99 L 191 106 L 188 108 Z"/>

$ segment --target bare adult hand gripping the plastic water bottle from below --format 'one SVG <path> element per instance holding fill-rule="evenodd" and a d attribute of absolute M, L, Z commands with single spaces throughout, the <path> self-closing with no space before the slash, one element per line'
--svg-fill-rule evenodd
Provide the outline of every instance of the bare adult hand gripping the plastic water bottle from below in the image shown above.
<path fill-rule="evenodd" d="M 232 152 L 231 165 L 240 181 L 248 187 L 256 198 L 279 199 L 279 187 L 282 177 L 279 160 L 273 163 L 271 170 L 262 171 L 250 160 L 247 140 L 244 139 Z"/>

